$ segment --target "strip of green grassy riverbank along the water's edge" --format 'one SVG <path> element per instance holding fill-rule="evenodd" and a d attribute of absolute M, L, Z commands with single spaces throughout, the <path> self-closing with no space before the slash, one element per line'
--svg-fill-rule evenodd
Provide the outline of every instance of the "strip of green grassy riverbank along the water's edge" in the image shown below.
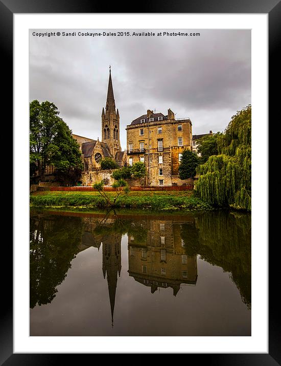
<path fill-rule="evenodd" d="M 114 192 L 106 192 L 115 197 Z M 190 191 L 130 192 L 115 202 L 118 208 L 150 210 L 208 210 L 212 207 Z M 107 202 L 98 192 L 36 192 L 30 196 L 32 207 L 106 208 Z"/>

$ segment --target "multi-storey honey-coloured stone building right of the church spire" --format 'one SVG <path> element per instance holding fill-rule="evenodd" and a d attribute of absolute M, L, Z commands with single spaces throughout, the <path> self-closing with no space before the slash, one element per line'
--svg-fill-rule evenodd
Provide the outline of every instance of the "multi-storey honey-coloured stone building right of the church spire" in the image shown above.
<path fill-rule="evenodd" d="M 175 119 L 153 113 L 140 116 L 127 126 L 127 164 L 144 162 L 147 169 L 147 185 L 172 186 L 190 184 L 178 174 L 180 157 L 184 149 L 192 149 L 192 123 L 190 118 Z"/>

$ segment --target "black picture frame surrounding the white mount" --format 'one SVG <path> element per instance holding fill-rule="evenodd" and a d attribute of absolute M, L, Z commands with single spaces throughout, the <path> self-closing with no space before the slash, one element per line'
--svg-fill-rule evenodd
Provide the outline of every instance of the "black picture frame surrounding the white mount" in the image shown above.
<path fill-rule="evenodd" d="M 155 0 L 153 3 L 143 1 L 141 9 L 131 9 L 124 2 L 97 3 L 90 0 L 0 0 L 0 46 L 2 54 L 2 72 L 5 71 L 7 82 L 6 93 L 2 97 L 5 109 L 8 110 L 6 124 L 11 124 L 11 111 L 13 110 L 13 14 L 14 13 L 266 13 L 269 22 L 269 117 L 274 125 L 274 136 L 271 135 L 270 146 L 277 144 L 280 123 L 277 115 L 279 106 L 280 85 L 280 58 L 277 51 L 280 44 L 281 34 L 281 2 L 280 0 L 243 0 L 233 2 L 230 0 L 197 0 L 197 1 L 174 1 L 166 2 Z M 108 11 L 110 9 L 110 11 Z M 276 91 L 277 90 L 277 91 Z M 273 118 L 276 117 L 275 122 Z M 11 124 L 12 125 L 12 124 Z M 269 128 L 269 126 L 268 126 Z M 269 134 L 268 134 L 269 135 Z M 276 144 L 274 144 L 276 143 Z M 274 150 L 274 148 L 273 148 Z M 276 152 L 277 154 L 277 152 Z M 276 154 L 274 154 L 276 156 Z M 14 157 L 15 158 L 15 157 Z M 271 166 L 271 165 L 270 165 Z M 263 179 L 268 179 L 263 172 Z M 280 184 L 277 185 L 277 188 Z M 273 195 L 273 193 L 272 193 Z M 278 207 L 278 198 L 274 197 L 274 203 Z M 16 202 L 14 202 L 16 203 Z M 270 216 L 270 228 L 278 227 L 277 216 Z M 15 228 L 14 228 L 15 230 Z M 9 245 L 8 245 L 9 244 Z M 252 243 L 254 245 L 255 243 Z M 278 240 L 274 241 L 278 244 Z M 13 353 L 13 256 L 12 245 L 6 242 L 3 245 L 4 256 L 9 264 L 2 275 L 2 301 L 1 326 L 0 326 L 0 362 L 8 365 L 43 365 L 56 364 L 65 361 L 66 354 L 14 354 Z M 281 341 L 279 327 L 279 303 L 275 294 L 278 294 L 278 257 L 274 250 L 269 248 L 269 353 L 268 354 L 186 354 L 189 361 L 197 356 L 196 361 L 202 361 L 208 365 L 277 365 L 281 364 Z M 7 260 L 9 259 L 9 260 Z M 5 274 L 5 277 L 4 277 Z M 184 350 L 182 351 L 184 353 Z M 86 356 L 87 354 L 83 354 Z M 71 354 L 73 361 L 78 360 L 81 354 Z M 92 356 L 91 354 L 88 356 Z M 199 357 L 199 358 L 198 358 Z M 81 358 L 79 359 L 81 362 Z"/>

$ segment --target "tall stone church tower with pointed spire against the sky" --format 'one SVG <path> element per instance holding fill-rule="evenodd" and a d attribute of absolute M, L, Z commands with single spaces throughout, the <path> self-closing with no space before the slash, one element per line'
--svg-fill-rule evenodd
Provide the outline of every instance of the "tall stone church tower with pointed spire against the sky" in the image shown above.
<path fill-rule="evenodd" d="M 109 66 L 109 81 L 105 109 L 102 110 L 102 142 L 109 147 L 110 153 L 115 158 L 116 152 L 121 151 L 119 111 L 115 109 L 115 100 Z"/>

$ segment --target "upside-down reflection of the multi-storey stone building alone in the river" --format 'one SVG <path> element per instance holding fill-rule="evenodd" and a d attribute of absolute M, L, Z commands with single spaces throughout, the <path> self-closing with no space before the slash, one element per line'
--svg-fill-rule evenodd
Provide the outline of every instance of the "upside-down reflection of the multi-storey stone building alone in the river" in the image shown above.
<path fill-rule="evenodd" d="M 149 286 L 151 293 L 171 287 L 176 296 L 180 284 L 196 285 L 197 256 L 187 255 L 180 236 L 181 224 L 167 220 L 135 221 L 147 230 L 147 238 L 137 242 L 128 235 L 129 276 Z"/>

